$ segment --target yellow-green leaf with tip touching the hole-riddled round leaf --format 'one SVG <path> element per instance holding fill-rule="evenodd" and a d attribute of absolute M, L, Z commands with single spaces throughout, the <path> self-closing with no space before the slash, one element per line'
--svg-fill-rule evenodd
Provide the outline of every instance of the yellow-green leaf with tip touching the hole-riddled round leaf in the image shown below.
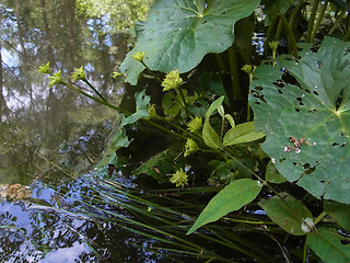
<path fill-rule="evenodd" d="M 254 122 L 243 123 L 229 129 L 223 137 L 223 145 L 231 146 L 264 138 L 262 133 L 255 132 Z"/>

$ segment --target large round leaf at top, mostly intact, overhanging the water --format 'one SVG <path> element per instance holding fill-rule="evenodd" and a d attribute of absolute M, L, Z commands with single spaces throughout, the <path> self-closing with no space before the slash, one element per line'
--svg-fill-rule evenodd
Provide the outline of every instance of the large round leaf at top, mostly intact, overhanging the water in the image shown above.
<path fill-rule="evenodd" d="M 159 0 L 148 21 L 136 27 L 138 41 L 120 69 L 136 84 L 144 67 L 131 55 L 145 52 L 152 70 L 187 72 L 208 53 L 222 53 L 234 41 L 236 21 L 248 16 L 259 0 Z"/>

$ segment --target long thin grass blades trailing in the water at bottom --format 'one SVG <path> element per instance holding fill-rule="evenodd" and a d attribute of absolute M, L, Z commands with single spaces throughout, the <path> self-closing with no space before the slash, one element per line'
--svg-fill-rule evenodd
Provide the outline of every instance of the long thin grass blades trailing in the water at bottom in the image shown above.
<path fill-rule="evenodd" d="M 103 226 L 101 226 L 101 222 L 108 222 L 112 226 L 122 228 L 139 237 L 160 242 L 164 247 L 162 248 L 163 251 L 172 253 L 179 251 L 182 254 L 186 253 L 188 256 L 196 255 L 208 261 L 235 262 L 229 261 L 229 259 L 222 258 L 222 255 L 218 255 L 214 251 L 206 248 L 208 244 L 200 244 L 206 240 L 207 243 L 215 244 L 214 247 L 220 245 L 231 251 L 237 251 L 253 259 L 266 256 L 264 253 L 260 253 L 260 251 L 256 252 L 255 249 L 247 247 L 247 240 L 243 239 L 237 241 L 235 240 L 235 236 L 228 236 L 226 233 L 230 231 L 228 231 L 226 227 L 223 227 L 223 229 L 226 230 L 218 233 L 213 231 L 215 228 L 210 225 L 194 235 L 190 239 L 185 236 L 186 230 L 195 220 L 191 214 L 198 213 L 201 206 L 198 207 L 196 204 L 188 204 L 182 199 L 177 199 L 177 197 L 183 193 L 185 196 L 188 194 L 202 193 L 203 188 L 213 192 L 211 187 L 198 187 L 184 191 L 176 190 L 176 192 L 172 190 L 173 193 L 178 195 L 176 197 L 170 197 L 171 195 L 167 195 L 171 191 L 163 191 L 164 195 L 160 197 L 155 193 L 148 193 L 138 187 L 124 187 L 121 184 L 122 182 L 119 184 L 116 181 L 96 180 L 96 178 L 94 179 L 92 176 L 88 179 L 86 190 L 84 192 L 93 191 L 93 194 L 85 195 L 85 193 L 80 193 L 82 199 L 72 196 L 69 190 L 66 190 L 66 193 L 62 193 L 62 191 L 57 192 L 63 195 L 63 198 L 68 202 L 75 204 L 74 208 L 47 207 L 46 209 L 68 213 L 70 216 L 83 216 L 86 220 L 98 225 L 98 228 L 103 230 L 106 237 L 109 236 L 108 230 L 105 230 Z M 167 192 L 167 194 L 165 192 Z M 154 202 L 154 199 L 162 199 L 162 204 Z M 184 204 L 187 205 L 187 210 L 191 211 L 191 214 L 184 213 L 182 209 Z M 45 205 L 40 205 L 37 208 L 40 207 L 44 208 Z M 151 209 L 149 210 L 150 207 Z M 177 207 L 178 210 L 182 211 L 178 211 L 174 207 Z M 73 211 L 71 211 L 72 208 Z M 96 245 L 93 245 L 90 240 L 85 241 L 96 250 Z M 135 245 L 138 244 L 136 243 Z M 142 247 L 142 249 L 144 248 Z M 166 256 L 166 254 L 163 254 L 163 256 Z M 178 254 L 178 256 L 180 256 L 180 254 Z"/>

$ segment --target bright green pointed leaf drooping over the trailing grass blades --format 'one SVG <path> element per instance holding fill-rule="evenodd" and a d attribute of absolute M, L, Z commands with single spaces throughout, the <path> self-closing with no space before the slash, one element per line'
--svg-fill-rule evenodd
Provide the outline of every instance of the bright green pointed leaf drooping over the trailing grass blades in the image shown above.
<path fill-rule="evenodd" d="M 241 209 L 260 193 L 262 185 L 255 180 L 241 179 L 221 190 L 201 211 L 187 235 L 201 226 L 218 220 L 231 211 Z"/>

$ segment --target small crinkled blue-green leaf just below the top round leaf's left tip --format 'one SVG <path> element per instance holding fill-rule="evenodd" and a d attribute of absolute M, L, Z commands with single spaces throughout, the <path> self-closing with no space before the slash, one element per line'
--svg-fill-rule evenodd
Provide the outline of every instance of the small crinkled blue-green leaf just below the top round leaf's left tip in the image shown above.
<path fill-rule="evenodd" d="M 151 101 L 149 95 L 145 95 L 145 90 L 135 93 L 136 99 L 136 113 L 131 114 L 130 116 L 122 118 L 120 126 L 125 126 L 127 124 L 133 124 L 140 118 L 148 117 L 148 105 Z"/>

